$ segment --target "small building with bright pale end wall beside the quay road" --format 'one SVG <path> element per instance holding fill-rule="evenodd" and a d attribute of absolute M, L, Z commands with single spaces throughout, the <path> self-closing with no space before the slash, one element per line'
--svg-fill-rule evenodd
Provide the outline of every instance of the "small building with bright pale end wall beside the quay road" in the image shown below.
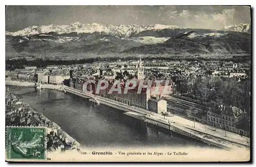
<path fill-rule="evenodd" d="M 165 100 L 160 99 L 159 97 L 154 98 L 152 97 L 147 101 L 148 103 L 148 110 L 157 114 L 164 114 L 167 113 L 167 103 Z"/>

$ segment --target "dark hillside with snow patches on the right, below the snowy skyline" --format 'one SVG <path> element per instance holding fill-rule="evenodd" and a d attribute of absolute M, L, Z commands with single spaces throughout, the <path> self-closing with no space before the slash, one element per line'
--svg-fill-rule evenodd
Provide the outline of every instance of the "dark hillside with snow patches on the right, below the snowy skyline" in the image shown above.
<path fill-rule="evenodd" d="M 125 53 L 243 53 L 250 52 L 250 35 L 245 33 L 224 33 L 222 31 L 193 30 L 180 33 L 182 30 L 163 30 L 151 33 L 156 37 L 168 36 L 161 44 L 143 45 L 124 50 Z M 205 34 L 204 34 L 205 33 Z"/>

